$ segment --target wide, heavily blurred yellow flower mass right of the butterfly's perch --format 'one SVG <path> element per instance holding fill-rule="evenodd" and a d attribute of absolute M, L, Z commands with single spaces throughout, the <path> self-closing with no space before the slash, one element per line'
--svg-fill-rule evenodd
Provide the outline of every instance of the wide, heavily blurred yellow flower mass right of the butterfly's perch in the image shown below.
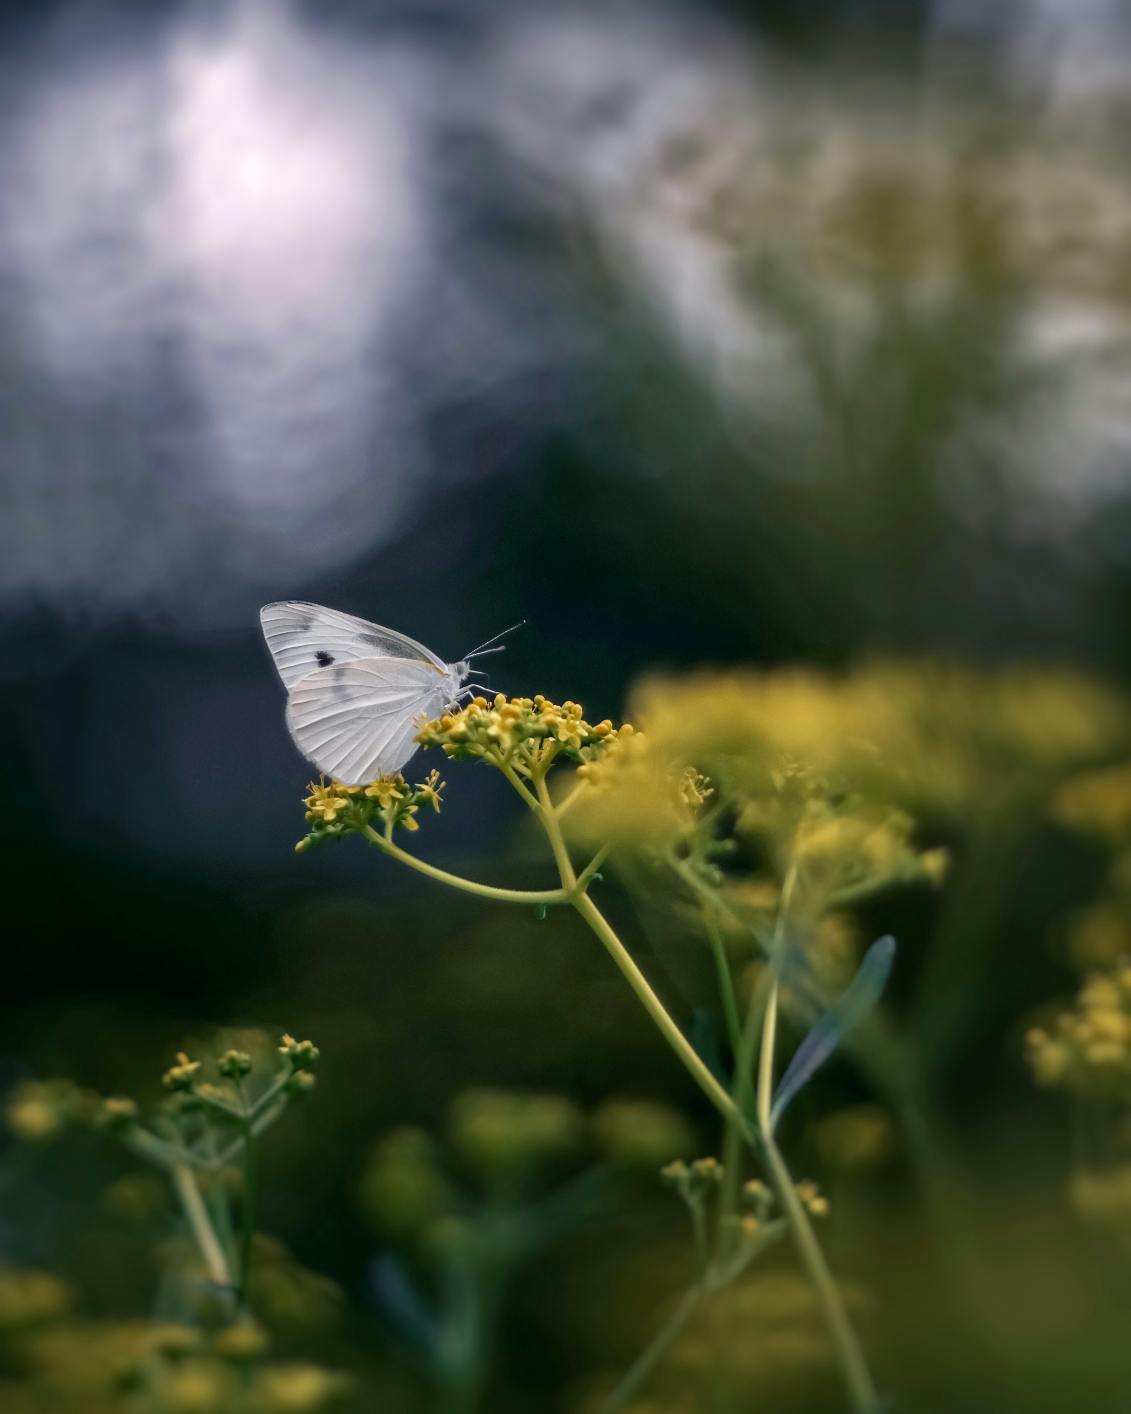
<path fill-rule="evenodd" d="M 763 829 L 773 812 L 785 829 L 806 802 L 847 792 L 974 817 L 988 802 L 1048 790 L 1131 747 L 1124 700 L 1080 674 L 936 662 L 874 663 L 843 677 L 652 680 L 632 715 L 645 724 L 646 747 L 595 773 L 616 790 L 578 809 L 578 820 L 590 813 L 592 833 L 655 840 L 656 807 L 688 768 L 708 775 L 721 799 L 756 806 Z M 618 764 L 631 769 L 618 772 Z M 669 833 L 677 827 L 674 817 L 666 823 Z"/>

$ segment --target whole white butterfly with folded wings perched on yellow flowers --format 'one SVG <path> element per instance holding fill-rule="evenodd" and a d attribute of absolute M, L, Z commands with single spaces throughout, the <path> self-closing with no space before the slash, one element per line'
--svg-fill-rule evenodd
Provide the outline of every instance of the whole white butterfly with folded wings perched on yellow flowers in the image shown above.
<path fill-rule="evenodd" d="M 475 691 L 464 683 L 482 649 L 445 663 L 416 639 L 320 604 L 266 604 L 259 621 L 295 747 L 348 786 L 400 771 L 417 749 L 420 714 L 438 717 Z"/>

